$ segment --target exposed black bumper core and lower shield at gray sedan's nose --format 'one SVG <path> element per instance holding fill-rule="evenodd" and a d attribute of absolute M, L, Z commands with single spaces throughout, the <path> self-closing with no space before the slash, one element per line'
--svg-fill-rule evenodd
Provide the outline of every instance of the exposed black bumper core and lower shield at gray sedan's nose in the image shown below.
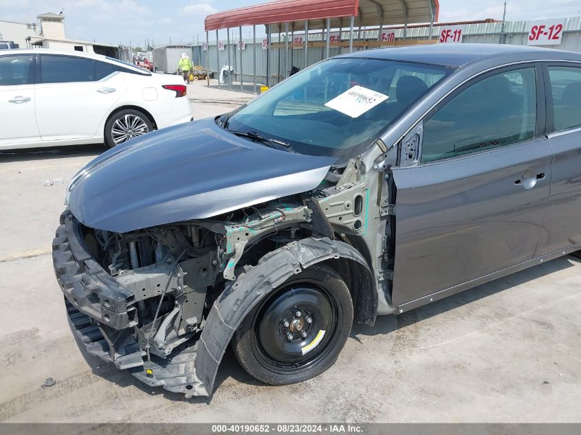
<path fill-rule="evenodd" d="M 196 376 L 197 344 L 179 346 L 166 358 L 146 353 L 135 341 L 138 324 L 133 294 L 113 279 L 87 252 L 80 226 L 67 211 L 52 244 L 58 285 L 69 321 L 87 352 L 129 370 L 149 386 L 186 396 L 208 396 Z"/>

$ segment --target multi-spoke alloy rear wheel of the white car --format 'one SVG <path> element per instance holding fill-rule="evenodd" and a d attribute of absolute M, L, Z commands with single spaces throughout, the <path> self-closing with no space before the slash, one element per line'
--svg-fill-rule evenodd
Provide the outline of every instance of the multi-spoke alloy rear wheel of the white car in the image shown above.
<path fill-rule="evenodd" d="M 105 144 L 109 148 L 153 130 L 147 115 L 135 109 L 123 109 L 113 114 L 105 124 Z"/>

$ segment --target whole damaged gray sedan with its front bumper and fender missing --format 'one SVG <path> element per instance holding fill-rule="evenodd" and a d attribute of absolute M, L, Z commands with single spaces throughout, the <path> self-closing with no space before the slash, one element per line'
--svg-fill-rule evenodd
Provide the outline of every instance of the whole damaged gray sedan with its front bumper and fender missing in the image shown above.
<path fill-rule="evenodd" d="M 579 249 L 580 62 L 358 52 L 107 151 L 70 183 L 53 243 L 78 337 L 187 397 L 212 394 L 229 345 L 256 379 L 294 383 L 353 322 Z"/>

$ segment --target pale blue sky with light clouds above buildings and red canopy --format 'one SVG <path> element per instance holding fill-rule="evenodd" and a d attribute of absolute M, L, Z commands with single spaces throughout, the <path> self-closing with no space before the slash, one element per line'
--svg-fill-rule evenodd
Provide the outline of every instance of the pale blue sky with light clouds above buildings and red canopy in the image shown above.
<path fill-rule="evenodd" d="M 191 42 L 198 37 L 202 41 L 206 15 L 256 3 L 266 1 L 0 0 L 0 20 L 34 23 L 38 14 L 64 10 L 69 38 L 125 45 L 131 41 L 133 46 L 142 46 L 149 38 L 155 45 L 161 45 L 170 39 L 172 43 Z M 502 19 L 503 3 L 503 0 L 440 0 L 439 21 Z M 507 20 L 563 16 L 581 16 L 581 0 L 507 1 Z"/>

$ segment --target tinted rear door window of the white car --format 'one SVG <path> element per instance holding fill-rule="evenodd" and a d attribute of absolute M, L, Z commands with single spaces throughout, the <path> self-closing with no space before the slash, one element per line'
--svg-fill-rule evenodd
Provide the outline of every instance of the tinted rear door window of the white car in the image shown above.
<path fill-rule="evenodd" d="M 42 83 L 92 82 L 95 80 L 93 60 L 74 56 L 41 56 Z"/>

